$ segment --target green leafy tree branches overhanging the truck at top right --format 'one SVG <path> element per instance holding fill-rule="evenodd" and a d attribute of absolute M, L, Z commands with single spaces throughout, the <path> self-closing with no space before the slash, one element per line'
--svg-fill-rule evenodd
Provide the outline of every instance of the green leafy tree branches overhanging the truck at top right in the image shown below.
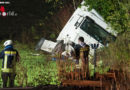
<path fill-rule="evenodd" d="M 119 0 L 85 0 L 89 9 L 95 9 L 117 32 L 130 31 L 130 2 Z"/>

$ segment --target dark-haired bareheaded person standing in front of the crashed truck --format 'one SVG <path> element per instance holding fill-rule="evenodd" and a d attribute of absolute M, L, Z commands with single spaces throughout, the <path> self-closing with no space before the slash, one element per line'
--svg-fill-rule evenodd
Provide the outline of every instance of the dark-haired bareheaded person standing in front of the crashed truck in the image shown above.
<path fill-rule="evenodd" d="M 89 73 L 89 45 L 84 42 L 83 37 L 79 37 L 78 44 L 74 47 L 76 53 L 77 62 L 79 62 L 79 58 L 82 60 L 82 70 Z"/>

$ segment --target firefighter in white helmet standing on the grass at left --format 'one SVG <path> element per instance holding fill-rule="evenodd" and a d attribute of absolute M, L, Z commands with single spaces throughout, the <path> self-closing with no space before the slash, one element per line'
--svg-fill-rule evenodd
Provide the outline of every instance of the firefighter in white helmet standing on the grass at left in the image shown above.
<path fill-rule="evenodd" d="M 4 43 L 4 50 L 0 53 L 0 58 L 3 59 L 1 77 L 3 81 L 3 88 L 14 87 L 14 80 L 16 76 L 16 62 L 19 62 L 20 56 L 18 51 L 13 48 L 12 40 L 7 40 Z"/>

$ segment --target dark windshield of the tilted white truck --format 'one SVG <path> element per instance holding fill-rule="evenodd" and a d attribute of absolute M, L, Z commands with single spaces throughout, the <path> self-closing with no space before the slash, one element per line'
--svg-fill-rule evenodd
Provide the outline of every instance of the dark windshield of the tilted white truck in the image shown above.
<path fill-rule="evenodd" d="M 89 18 L 85 19 L 80 28 L 103 45 L 106 45 L 110 41 L 115 41 L 116 39 L 115 36 L 108 33 Z"/>

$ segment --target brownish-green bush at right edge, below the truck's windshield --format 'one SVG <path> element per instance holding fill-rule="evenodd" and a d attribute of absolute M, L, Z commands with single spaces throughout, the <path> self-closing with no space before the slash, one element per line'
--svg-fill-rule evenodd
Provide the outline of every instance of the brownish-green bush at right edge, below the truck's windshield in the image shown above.
<path fill-rule="evenodd" d="M 130 32 L 119 36 L 116 42 L 105 47 L 99 54 L 105 66 L 112 69 L 130 71 Z"/>

